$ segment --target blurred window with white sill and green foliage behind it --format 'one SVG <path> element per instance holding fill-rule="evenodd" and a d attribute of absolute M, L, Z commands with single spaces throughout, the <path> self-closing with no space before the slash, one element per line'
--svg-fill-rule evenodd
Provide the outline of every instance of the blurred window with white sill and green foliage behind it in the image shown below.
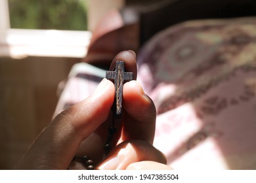
<path fill-rule="evenodd" d="M 91 38 L 85 2 L 0 0 L 0 56 L 83 58 Z"/>

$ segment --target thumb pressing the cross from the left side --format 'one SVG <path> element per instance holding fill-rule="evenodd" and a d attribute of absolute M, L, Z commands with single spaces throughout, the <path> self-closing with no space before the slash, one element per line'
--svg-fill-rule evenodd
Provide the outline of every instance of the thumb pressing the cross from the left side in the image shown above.
<path fill-rule="evenodd" d="M 17 169 L 67 169 L 83 139 L 105 122 L 114 85 L 103 79 L 95 92 L 56 116 L 33 143 Z"/>

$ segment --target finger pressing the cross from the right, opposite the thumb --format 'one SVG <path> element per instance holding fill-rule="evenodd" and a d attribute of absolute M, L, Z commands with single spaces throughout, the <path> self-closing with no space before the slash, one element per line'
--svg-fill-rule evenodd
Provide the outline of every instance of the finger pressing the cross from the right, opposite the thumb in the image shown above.
<path fill-rule="evenodd" d="M 156 107 L 135 80 L 125 83 L 123 87 L 123 109 L 123 141 L 137 139 L 152 144 L 156 129 Z"/>

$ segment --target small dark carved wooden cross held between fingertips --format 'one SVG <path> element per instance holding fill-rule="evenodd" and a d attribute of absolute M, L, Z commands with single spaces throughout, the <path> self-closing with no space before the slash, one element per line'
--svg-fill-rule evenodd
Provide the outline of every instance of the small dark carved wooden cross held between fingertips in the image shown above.
<path fill-rule="evenodd" d="M 112 80 L 115 84 L 115 101 L 114 113 L 116 116 L 121 115 L 122 100 L 123 100 L 123 84 L 129 80 L 133 80 L 133 73 L 125 72 L 124 61 L 116 61 L 116 68 L 114 71 L 106 71 L 106 78 Z"/>

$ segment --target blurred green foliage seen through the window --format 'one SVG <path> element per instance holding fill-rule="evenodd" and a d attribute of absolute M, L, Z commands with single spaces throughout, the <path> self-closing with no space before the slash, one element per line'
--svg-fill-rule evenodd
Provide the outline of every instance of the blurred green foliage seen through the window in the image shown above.
<path fill-rule="evenodd" d="M 11 28 L 87 30 L 86 0 L 9 0 Z"/>

